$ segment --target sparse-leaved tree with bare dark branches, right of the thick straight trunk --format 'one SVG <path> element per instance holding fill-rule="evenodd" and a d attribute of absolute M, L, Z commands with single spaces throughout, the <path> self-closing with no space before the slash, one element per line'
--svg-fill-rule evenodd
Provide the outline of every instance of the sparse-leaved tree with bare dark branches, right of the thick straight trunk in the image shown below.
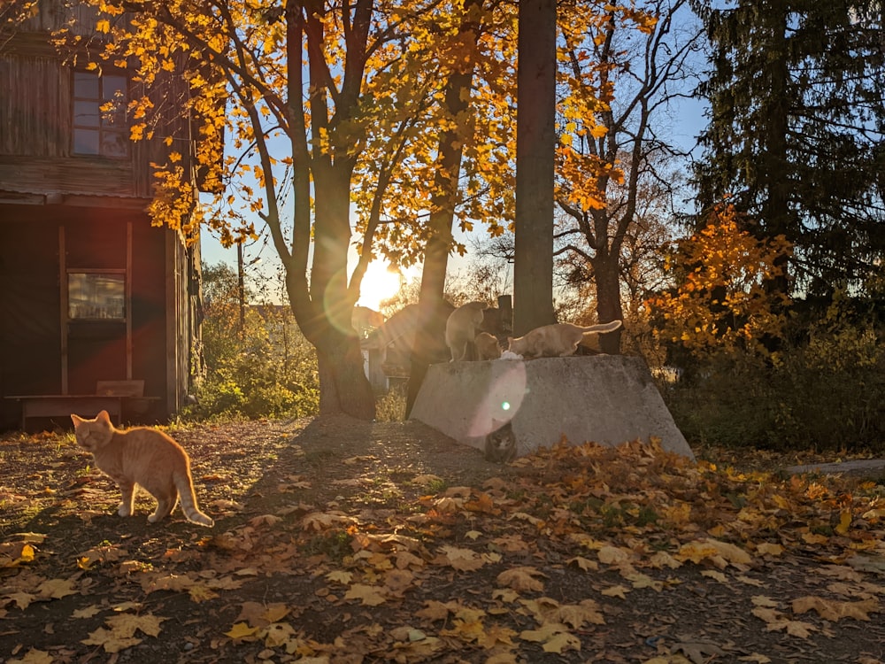
<path fill-rule="evenodd" d="M 687 61 L 700 33 L 687 0 L 607 4 L 589 13 L 564 4 L 561 14 L 557 254 L 589 266 L 573 274 L 592 274 L 599 321 L 623 319 L 625 243 L 641 226 L 643 191 L 666 195 L 654 188 L 665 181 L 662 155 L 678 152 L 656 122 L 687 94 Z M 620 334 L 601 343 L 617 352 Z"/>

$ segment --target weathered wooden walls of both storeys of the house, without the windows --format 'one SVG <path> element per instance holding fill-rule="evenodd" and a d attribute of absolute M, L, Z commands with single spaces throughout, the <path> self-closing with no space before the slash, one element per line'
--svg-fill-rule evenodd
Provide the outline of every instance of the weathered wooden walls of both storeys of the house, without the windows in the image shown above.
<path fill-rule="evenodd" d="M 188 91 L 172 74 L 152 90 L 165 117 L 129 158 L 72 154 L 73 69 L 49 41 L 70 12 L 89 35 L 94 20 L 60 0 L 43 0 L 13 35 L 0 27 L 0 397 L 85 394 L 97 380 L 136 378 L 162 420 L 196 365 L 199 254 L 152 227 L 146 207 L 151 161 L 177 151 L 188 173 L 189 122 L 178 117 Z M 76 268 L 127 271 L 125 321 L 68 320 L 66 275 Z M 17 424 L 18 408 L 0 398 L 0 429 Z"/>

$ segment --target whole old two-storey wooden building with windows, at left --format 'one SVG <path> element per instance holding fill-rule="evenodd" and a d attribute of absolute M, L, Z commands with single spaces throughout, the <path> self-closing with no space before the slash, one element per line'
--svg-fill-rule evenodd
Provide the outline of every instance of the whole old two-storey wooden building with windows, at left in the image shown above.
<path fill-rule="evenodd" d="M 188 123 L 131 143 L 127 71 L 59 56 L 51 31 L 84 11 L 64 7 L 0 26 L 0 429 L 70 423 L 119 394 L 142 397 L 117 400 L 124 421 L 164 421 L 199 366 L 199 243 L 146 211 L 150 162 L 188 159 Z"/>

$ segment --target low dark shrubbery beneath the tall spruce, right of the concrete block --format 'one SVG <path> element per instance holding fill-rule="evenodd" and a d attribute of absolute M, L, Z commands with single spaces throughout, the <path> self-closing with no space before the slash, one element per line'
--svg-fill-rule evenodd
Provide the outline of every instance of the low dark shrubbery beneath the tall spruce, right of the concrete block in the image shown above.
<path fill-rule="evenodd" d="M 872 327 L 812 329 L 769 358 L 722 353 L 661 382 L 689 443 L 773 449 L 885 446 L 885 347 Z"/>

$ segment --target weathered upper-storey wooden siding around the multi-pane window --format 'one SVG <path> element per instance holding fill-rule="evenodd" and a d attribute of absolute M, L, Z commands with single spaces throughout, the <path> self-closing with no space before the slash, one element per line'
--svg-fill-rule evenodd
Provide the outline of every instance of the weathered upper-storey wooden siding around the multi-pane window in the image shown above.
<path fill-rule="evenodd" d="M 4 34 L 0 28 L 0 191 L 150 199 L 155 182 L 151 162 L 162 164 L 177 151 L 185 173 L 190 169 L 191 127 L 188 119 L 179 117 L 187 86 L 172 74 L 158 77 L 150 91 L 158 110 L 158 117 L 151 118 L 155 136 L 132 143 L 129 158 L 73 155 L 73 66 L 84 66 L 88 50 L 97 52 L 101 44 L 86 39 L 81 52 L 58 52 L 50 42 L 51 32 L 72 14 L 73 31 L 89 35 L 95 26 L 91 11 L 79 6 L 63 10 L 58 0 L 42 2 L 40 12 L 14 33 Z M 135 94 L 130 82 L 129 95 Z M 172 145 L 166 146 L 169 136 Z"/>

